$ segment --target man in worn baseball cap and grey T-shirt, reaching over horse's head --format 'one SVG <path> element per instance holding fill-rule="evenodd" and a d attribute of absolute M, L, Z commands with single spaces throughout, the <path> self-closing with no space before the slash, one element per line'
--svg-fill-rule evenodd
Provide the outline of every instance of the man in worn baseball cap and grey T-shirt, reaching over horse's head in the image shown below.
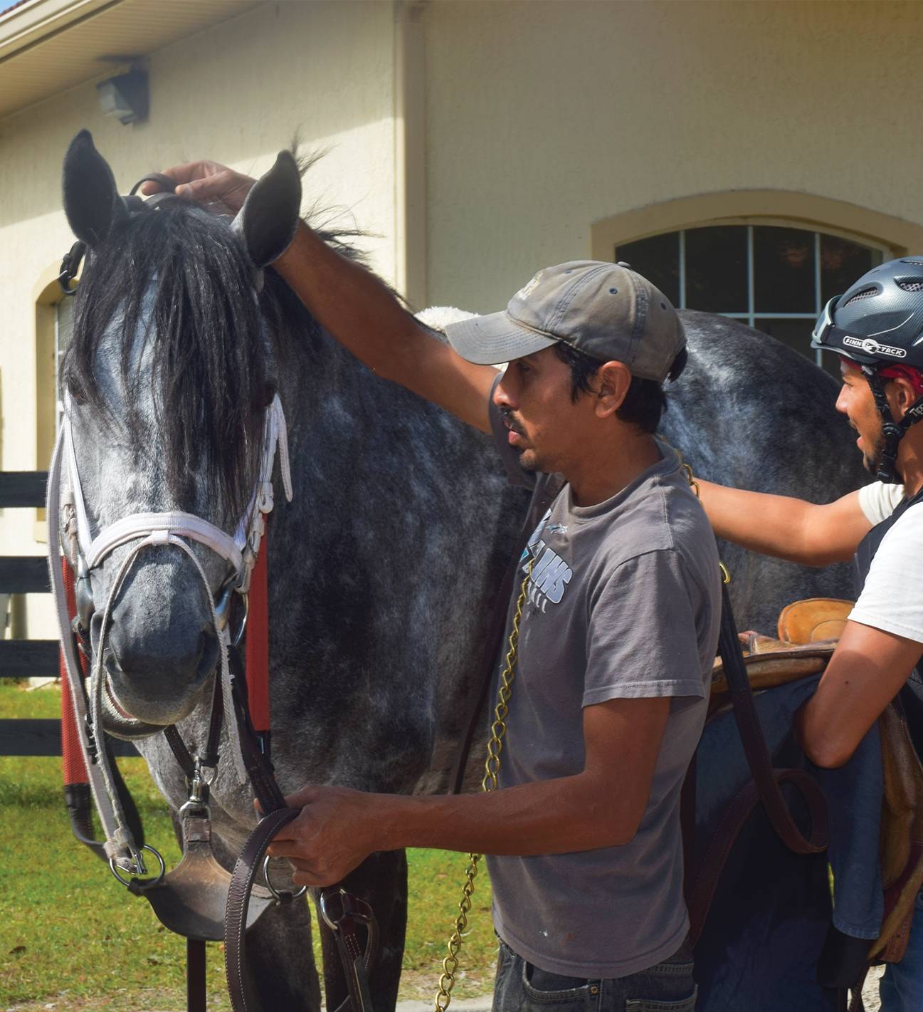
<path fill-rule="evenodd" d="M 211 163 L 168 174 L 181 195 L 230 209 L 248 188 Z M 512 481 L 566 483 L 511 602 L 507 635 L 522 616 L 498 789 L 407 797 L 309 785 L 288 798 L 302 812 L 270 853 L 318 887 L 375 850 L 485 853 L 495 1009 L 622 1012 L 637 1001 L 693 1012 L 679 793 L 721 596 L 708 520 L 653 436 L 662 384 L 685 355 L 672 306 L 626 265 L 573 261 L 540 270 L 505 310 L 448 326 L 446 344 L 305 226 L 275 266 L 376 372 L 492 433 Z"/>

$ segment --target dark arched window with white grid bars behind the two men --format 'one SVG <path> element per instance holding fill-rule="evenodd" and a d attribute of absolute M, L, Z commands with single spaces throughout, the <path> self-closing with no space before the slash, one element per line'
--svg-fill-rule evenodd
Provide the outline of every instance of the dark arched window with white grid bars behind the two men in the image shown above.
<path fill-rule="evenodd" d="M 811 331 L 829 299 L 892 255 L 884 244 L 784 225 L 715 224 L 648 236 L 616 247 L 678 309 L 742 320 L 837 375 L 811 349 Z"/>

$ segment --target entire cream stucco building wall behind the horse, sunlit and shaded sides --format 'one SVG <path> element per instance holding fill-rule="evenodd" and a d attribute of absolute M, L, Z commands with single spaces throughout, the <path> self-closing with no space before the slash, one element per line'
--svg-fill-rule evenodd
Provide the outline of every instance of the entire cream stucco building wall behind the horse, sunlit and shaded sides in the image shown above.
<path fill-rule="evenodd" d="M 491 311 L 542 264 L 728 217 L 923 251 L 918 14 L 839 0 L 282 0 L 154 53 L 145 123 L 103 117 L 92 83 L 0 120 L 0 467 L 47 452 L 36 300 L 55 298 L 72 242 L 61 160 L 83 126 L 125 188 L 201 157 L 259 173 L 299 131 L 330 149 L 308 198 L 348 208 L 386 279 L 418 306 Z M 0 553 L 40 553 L 36 531 L 33 511 L 0 513 Z M 20 635 L 51 635 L 49 603 L 29 599 Z"/>

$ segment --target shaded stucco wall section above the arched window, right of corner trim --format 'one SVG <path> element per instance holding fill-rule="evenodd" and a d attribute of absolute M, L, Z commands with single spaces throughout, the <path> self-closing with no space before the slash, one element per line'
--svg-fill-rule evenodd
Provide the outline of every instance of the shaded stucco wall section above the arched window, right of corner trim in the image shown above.
<path fill-rule="evenodd" d="M 923 222 L 916 4 L 445 0 L 425 25 L 431 302 L 498 309 L 593 223 L 687 194 Z"/>

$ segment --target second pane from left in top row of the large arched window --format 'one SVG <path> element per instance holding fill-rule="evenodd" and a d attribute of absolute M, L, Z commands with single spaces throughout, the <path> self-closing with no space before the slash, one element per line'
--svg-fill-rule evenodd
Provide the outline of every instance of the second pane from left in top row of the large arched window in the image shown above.
<path fill-rule="evenodd" d="M 708 313 L 747 312 L 745 225 L 686 230 L 685 305 Z"/>

